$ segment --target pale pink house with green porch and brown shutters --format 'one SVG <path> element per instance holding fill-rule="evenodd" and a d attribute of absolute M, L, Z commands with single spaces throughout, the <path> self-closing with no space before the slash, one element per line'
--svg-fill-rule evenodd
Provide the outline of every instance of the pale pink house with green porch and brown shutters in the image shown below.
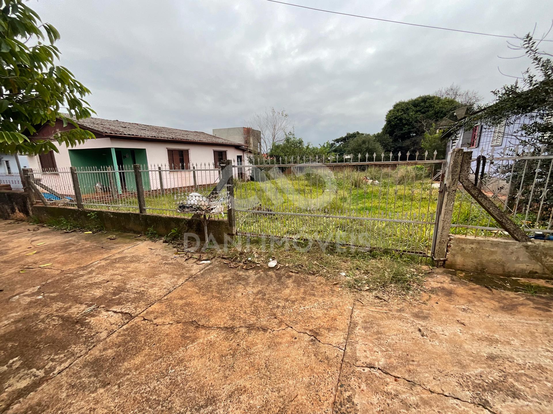
<path fill-rule="evenodd" d="M 93 187 L 98 182 L 105 187 L 116 187 L 122 193 L 135 190 L 133 164 L 140 164 L 143 169 L 149 170 L 149 173 L 143 174 L 146 190 L 160 189 L 161 185 L 164 188 L 187 187 L 193 183 L 203 185 L 216 182 L 218 170 L 227 160 L 247 164 L 250 152 L 249 142 L 231 141 L 199 131 L 101 118 L 82 119 L 77 124 L 93 132 L 96 139 L 72 148 L 59 145 L 59 153 L 50 151 L 25 159 L 26 167 L 44 176 L 48 174 L 50 185 L 63 194 L 72 193 L 70 188 L 65 188 L 68 187 L 67 183 L 62 182 L 67 181 L 67 174 L 61 174 L 62 171 L 69 171 L 69 167 L 77 167 L 79 171 L 108 171 L 95 173 L 88 183 L 81 182 L 86 175 L 80 174 L 79 181 L 84 193 L 94 192 Z M 64 126 L 58 120 L 54 126 L 43 125 L 32 138 L 49 138 L 56 132 L 72 128 L 75 127 L 71 124 Z M 11 160 L 8 160 L 8 164 L 18 173 Z M 163 174 L 158 173 L 158 169 Z M 35 177 L 38 175 L 35 174 Z"/>

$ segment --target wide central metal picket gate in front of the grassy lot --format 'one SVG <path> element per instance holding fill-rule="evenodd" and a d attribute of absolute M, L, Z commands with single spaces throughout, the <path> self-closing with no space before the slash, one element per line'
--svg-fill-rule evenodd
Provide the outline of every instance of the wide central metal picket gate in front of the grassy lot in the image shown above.
<path fill-rule="evenodd" d="M 443 160 L 428 153 L 233 166 L 238 233 L 431 256 Z"/>

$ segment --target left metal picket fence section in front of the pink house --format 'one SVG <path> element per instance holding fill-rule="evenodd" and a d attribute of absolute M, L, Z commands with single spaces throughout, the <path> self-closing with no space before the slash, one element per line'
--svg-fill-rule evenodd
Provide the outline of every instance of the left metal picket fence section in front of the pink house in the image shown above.
<path fill-rule="evenodd" d="M 211 197 L 221 177 L 221 167 L 208 163 L 189 168 L 131 164 L 26 171 L 35 193 L 51 205 L 188 217 L 191 213 L 176 210 L 179 202 L 189 194 Z"/>

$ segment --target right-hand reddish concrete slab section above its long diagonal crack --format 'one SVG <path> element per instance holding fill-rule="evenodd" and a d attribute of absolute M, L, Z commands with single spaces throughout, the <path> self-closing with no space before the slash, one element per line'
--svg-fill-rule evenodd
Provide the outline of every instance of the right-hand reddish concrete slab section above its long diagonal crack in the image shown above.
<path fill-rule="evenodd" d="M 467 401 L 475 410 L 552 412 L 550 299 L 509 299 L 483 286 L 443 279 L 425 304 L 356 305 L 345 362 Z M 433 283 L 439 282 L 428 284 Z M 364 404 L 363 395 L 347 385 L 341 391 Z"/>

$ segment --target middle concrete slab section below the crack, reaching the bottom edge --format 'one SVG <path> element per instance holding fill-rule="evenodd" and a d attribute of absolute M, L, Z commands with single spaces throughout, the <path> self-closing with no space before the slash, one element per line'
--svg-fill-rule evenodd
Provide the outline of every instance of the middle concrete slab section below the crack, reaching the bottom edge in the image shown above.
<path fill-rule="evenodd" d="M 341 358 L 293 330 L 137 318 L 10 412 L 328 413 Z"/>

